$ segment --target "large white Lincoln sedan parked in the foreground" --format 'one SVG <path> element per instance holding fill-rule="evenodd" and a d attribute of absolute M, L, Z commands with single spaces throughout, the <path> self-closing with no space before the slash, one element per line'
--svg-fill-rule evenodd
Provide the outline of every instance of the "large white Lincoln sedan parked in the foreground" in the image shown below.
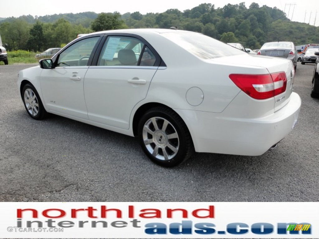
<path fill-rule="evenodd" d="M 258 57 L 200 33 L 125 29 L 91 33 L 19 72 L 26 112 L 137 136 L 155 163 L 194 151 L 257 156 L 297 122 L 291 61 Z"/>

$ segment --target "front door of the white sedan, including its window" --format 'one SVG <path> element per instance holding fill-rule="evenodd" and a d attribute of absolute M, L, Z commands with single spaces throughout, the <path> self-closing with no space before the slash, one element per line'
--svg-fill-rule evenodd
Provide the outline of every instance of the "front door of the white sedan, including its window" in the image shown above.
<path fill-rule="evenodd" d="M 43 69 L 41 91 L 49 112 L 88 119 L 83 83 L 87 63 L 99 36 L 80 40 L 58 56 L 54 69 Z"/>

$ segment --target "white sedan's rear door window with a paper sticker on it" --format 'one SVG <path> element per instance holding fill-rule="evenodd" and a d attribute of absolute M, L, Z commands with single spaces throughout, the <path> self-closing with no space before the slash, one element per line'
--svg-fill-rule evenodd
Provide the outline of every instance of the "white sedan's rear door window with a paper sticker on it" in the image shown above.
<path fill-rule="evenodd" d="M 106 40 L 98 66 L 137 66 L 144 43 L 134 37 L 110 36 Z"/>

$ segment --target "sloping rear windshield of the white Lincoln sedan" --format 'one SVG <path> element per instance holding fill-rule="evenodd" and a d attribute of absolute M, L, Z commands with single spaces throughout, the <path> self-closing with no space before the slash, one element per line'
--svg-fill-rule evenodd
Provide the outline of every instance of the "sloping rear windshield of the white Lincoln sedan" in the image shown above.
<path fill-rule="evenodd" d="M 202 59 L 246 54 L 237 48 L 200 33 L 170 32 L 161 34 L 176 45 Z"/>

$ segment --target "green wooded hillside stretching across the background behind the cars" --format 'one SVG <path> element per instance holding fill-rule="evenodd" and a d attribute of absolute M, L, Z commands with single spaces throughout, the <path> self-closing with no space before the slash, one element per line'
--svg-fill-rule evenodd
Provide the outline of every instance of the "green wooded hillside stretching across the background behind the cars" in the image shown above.
<path fill-rule="evenodd" d="M 319 44 L 319 27 L 292 22 L 280 9 L 257 3 L 227 4 L 215 8 L 203 3 L 192 9 L 168 9 L 162 13 L 67 13 L 21 16 L 0 20 L 2 42 L 9 50 L 43 51 L 65 45 L 78 34 L 122 28 L 170 28 L 203 33 L 223 42 L 239 42 L 255 49 L 269 41 L 293 41 L 295 45 Z"/>

